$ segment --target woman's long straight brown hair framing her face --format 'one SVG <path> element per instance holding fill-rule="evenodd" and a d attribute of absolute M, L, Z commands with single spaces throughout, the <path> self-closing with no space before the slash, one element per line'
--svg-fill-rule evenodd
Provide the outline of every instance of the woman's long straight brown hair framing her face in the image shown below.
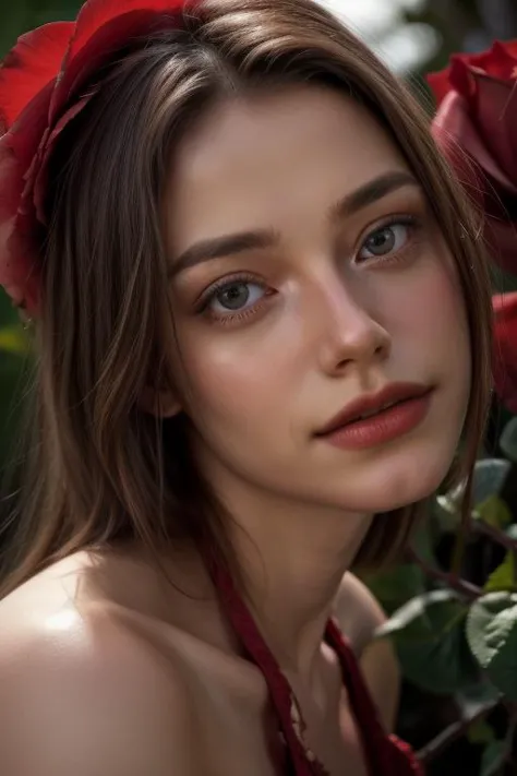
<path fill-rule="evenodd" d="M 474 378 L 458 476 L 470 476 L 491 383 L 490 284 L 472 213 L 406 87 L 311 0 L 205 0 L 184 13 L 181 29 L 164 17 L 156 34 L 132 40 L 98 79 L 50 170 L 37 439 L 0 590 L 79 549 L 130 539 L 156 556 L 170 541 L 205 541 L 233 562 L 226 516 L 189 455 L 188 421 L 145 415 L 139 396 L 149 375 L 173 379 L 160 350 L 171 324 L 160 236 L 171 148 L 207 106 L 244 89 L 341 89 L 405 154 L 466 302 Z M 357 560 L 393 557 L 421 506 L 377 515 Z"/>

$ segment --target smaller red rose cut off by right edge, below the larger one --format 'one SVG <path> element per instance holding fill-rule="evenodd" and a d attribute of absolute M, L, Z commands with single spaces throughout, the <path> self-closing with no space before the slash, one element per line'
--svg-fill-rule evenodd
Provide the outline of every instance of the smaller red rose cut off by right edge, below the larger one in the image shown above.
<path fill-rule="evenodd" d="M 503 404 L 517 413 L 517 291 L 493 297 L 495 313 L 495 390 Z"/>

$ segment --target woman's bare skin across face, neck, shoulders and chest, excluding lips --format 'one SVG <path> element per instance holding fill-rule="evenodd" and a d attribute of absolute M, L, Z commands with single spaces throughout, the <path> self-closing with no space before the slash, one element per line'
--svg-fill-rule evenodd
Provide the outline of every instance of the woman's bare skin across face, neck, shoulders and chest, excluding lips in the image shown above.
<path fill-rule="evenodd" d="M 216 106 L 171 159 L 164 201 L 188 402 L 168 391 L 157 402 L 149 385 L 143 404 L 189 416 L 197 464 L 232 517 L 250 609 L 332 776 L 366 771 L 326 620 L 338 616 L 392 726 L 397 668 L 371 644 L 383 613 L 347 570 L 374 513 L 441 483 L 469 395 L 452 259 L 409 172 L 364 109 L 291 87 Z M 336 207 L 393 174 L 399 184 L 361 207 Z M 269 241 L 180 266 L 200 241 L 243 230 Z M 386 254 L 372 254 L 372 235 Z M 225 307 L 220 283 L 241 310 Z M 394 381 L 433 389 L 417 429 L 365 451 L 318 439 L 345 404 Z M 160 585 L 134 548 L 63 561 L 0 604 L 2 776 L 274 776 L 263 677 L 195 553 L 164 562 L 190 596 Z"/>

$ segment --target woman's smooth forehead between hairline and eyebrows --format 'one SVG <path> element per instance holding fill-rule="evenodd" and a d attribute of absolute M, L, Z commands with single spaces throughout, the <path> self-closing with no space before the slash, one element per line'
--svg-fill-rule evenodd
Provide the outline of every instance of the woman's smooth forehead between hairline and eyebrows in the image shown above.
<path fill-rule="evenodd" d="M 282 231 L 394 169 L 407 169 L 397 146 L 347 95 L 311 85 L 224 102 L 173 153 L 168 237 L 180 251 L 236 228 Z"/>

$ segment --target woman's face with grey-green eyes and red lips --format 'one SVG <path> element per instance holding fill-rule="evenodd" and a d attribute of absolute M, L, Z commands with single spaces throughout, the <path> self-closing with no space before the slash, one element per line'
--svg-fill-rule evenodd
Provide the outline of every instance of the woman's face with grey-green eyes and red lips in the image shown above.
<path fill-rule="evenodd" d="M 165 214 L 207 476 L 365 513 L 431 493 L 468 403 L 466 314 L 429 203 L 370 114 L 316 86 L 221 104 L 178 148 Z M 376 431 L 321 434 L 400 382 L 430 393 Z"/>

